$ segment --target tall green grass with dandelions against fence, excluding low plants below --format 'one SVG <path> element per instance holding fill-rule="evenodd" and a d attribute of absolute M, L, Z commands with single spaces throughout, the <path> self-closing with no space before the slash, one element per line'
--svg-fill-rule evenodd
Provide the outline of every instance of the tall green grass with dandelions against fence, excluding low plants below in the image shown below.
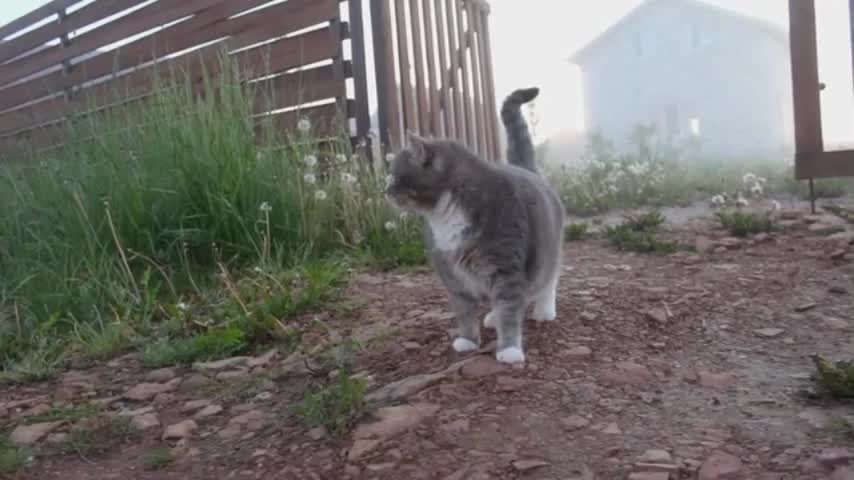
<path fill-rule="evenodd" d="M 222 70 L 201 94 L 174 73 L 144 102 L 76 119 L 66 147 L 0 168 L 0 362 L 81 325 L 145 330 L 222 270 L 420 260 L 382 165 L 307 121 L 285 135 L 253 119 L 264 85 Z"/>

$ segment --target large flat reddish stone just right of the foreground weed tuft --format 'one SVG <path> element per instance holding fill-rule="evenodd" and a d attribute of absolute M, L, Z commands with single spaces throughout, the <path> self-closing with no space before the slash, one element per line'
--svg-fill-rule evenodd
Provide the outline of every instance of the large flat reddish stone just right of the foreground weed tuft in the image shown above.
<path fill-rule="evenodd" d="M 365 457 L 383 442 L 411 430 L 421 422 L 432 418 L 441 407 L 432 403 L 398 405 L 377 410 L 378 419 L 372 423 L 362 423 L 353 432 L 355 442 L 348 453 L 353 462 Z"/>

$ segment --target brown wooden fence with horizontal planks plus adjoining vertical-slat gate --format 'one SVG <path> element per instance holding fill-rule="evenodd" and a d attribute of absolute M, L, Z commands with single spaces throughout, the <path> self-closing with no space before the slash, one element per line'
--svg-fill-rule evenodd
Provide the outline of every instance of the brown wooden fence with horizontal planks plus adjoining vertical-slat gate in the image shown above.
<path fill-rule="evenodd" d="M 412 129 L 458 138 L 495 158 L 486 2 L 365 6 L 362 0 L 53 0 L 0 27 L 0 155 L 61 145 L 68 122 L 143 100 L 176 69 L 200 84 L 217 73 L 225 54 L 248 72 L 244 81 L 264 79 L 272 88 L 275 100 L 256 114 L 273 115 L 282 130 L 307 117 L 316 133 L 331 135 L 354 119 L 354 138 L 378 130 L 383 144 L 396 148 Z"/>

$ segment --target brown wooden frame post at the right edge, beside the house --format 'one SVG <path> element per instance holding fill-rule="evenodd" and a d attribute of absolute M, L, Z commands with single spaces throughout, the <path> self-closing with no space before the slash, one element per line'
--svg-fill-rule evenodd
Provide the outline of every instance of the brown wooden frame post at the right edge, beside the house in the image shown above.
<path fill-rule="evenodd" d="M 854 0 L 849 0 L 854 67 Z M 854 150 L 825 151 L 816 42 L 815 0 L 789 0 L 795 175 L 798 179 L 854 176 Z"/>

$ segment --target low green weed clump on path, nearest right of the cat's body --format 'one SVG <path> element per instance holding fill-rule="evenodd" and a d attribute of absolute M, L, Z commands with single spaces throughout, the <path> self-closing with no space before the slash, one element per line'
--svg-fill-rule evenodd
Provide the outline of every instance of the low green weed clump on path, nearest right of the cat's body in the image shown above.
<path fill-rule="evenodd" d="M 622 223 L 605 228 L 605 238 L 618 250 L 670 254 L 687 247 L 656 236 L 665 218 L 658 211 L 626 216 Z"/>

